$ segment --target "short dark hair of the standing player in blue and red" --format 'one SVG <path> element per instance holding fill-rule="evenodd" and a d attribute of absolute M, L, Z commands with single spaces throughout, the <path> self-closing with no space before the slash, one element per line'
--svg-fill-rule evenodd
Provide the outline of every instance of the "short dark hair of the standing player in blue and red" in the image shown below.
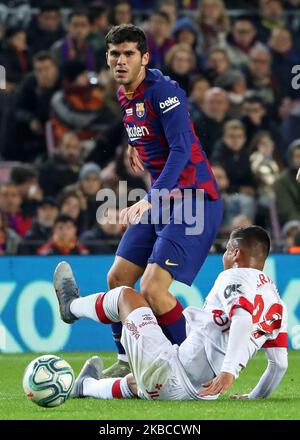
<path fill-rule="evenodd" d="M 145 32 L 134 24 L 114 26 L 105 37 L 106 50 L 110 44 L 137 43 L 137 48 L 144 55 L 148 52 Z"/>

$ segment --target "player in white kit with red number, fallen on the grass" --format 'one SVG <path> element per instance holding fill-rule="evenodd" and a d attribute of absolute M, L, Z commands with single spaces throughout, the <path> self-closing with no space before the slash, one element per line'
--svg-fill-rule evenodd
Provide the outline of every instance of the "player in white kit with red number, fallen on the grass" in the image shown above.
<path fill-rule="evenodd" d="M 260 348 L 268 366 L 249 398 L 268 397 L 287 369 L 286 307 L 262 272 L 270 249 L 268 234 L 250 226 L 233 231 L 218 276 L 203 309 L 188 307 L 187 338 L 172 345 L 148 303 L 134 289 L 117 287 L 80 298 L 68 263 L 60 263 L 54 286 L 66 322 L 91 318 L 121 321 L 122 344 L 133 374 L 101 379 L 102 361 L 86 362 L 73 397 L 197 400 L 216 399 Z"/>

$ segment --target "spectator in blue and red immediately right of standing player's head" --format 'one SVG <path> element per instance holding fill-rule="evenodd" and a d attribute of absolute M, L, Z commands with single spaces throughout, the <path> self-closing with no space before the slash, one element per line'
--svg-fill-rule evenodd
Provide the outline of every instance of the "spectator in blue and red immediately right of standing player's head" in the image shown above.
<path fill-rule="evenodd" d="M 170 38 L 171 23 L 165 12 L 153 12 L 148 21 L 147 42 L 150 52 L 149 67 L 161 69 L 165 63 L 165 55 L 173 46 Z"/>

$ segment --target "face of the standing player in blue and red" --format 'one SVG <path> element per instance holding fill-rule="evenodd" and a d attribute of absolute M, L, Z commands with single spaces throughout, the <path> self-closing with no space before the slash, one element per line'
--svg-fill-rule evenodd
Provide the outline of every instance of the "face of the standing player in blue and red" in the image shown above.
<path fill-rule="evenodd" d="M 149 61 L 149 53 L 142 55 L 137 43 L 125 42 L 110 44 L 106 58 L 116 82 L 130 86 L 142 76 Z"/>

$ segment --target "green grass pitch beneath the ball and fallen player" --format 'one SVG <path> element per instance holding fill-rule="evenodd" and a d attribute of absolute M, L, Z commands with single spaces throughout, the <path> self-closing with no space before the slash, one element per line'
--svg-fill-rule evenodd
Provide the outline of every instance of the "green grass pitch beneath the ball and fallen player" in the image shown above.
<path fill-rule="evenodd" d="M 64 353 L 77 374 L 84 361 L 94 353 Z M 34 405 L 24 395 L 22 376 L 36 354 L 0 355 L 0 419 L 42 420 L 205 420 L 205 419 L 299 419 L 300 351 L 290 351 L 289 369 L 271 398 L 258 401 L 232 401 L 228 395 L 215 402 L 158 402 L 142 400 L 69 400 L 64 405 L 46 409 Z M 103 353 L 105 366 L 115 355 Z M 230 392 L 248 392 L 266 366 L 263 353 L 254 358 Z"/>

